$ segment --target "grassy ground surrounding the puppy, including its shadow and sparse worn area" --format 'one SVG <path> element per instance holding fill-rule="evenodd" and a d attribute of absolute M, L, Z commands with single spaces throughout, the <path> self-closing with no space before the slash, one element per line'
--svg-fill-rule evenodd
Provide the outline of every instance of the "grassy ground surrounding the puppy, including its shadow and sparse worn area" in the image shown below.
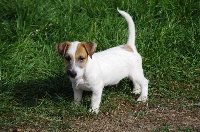
<path fill-rule="evenodd" d="M 89 124 L 95 126 L 98 120 L 110 122 L 113 130 L 120 130 L 118 125 L 127 131 L 200 130 L 199 119 L 184 126 L 184 117 L 198 118 L 200 112 L 193 105 L 200 101 L 199 4 L 195 0 L 1 1 L 0 130 L 95 131 Z M 125 43 L 127 23 L 117 7 L 129 12 L 136 24 L 136 45 L 150 80 L 148 107 L 135 101 L 132 84 L 124 79 L 105 88 L 101 112 L 95 116 L 87 112 L 90 93 L 84 94 L 80 106 L 73 103 L 55 45 L 93 41 L 102 51 Z M 186 112 L 182 117 L 175 113 L 180 119 L 174 122 L 165 119 L 165 112 L 173 110 Z M 142 121 L 149 125 L 144 127 Z M 132 128 L 133 122 L 140 122 L 139 128 Z M 102 123 L 99 129 L 108 130 Z"/>

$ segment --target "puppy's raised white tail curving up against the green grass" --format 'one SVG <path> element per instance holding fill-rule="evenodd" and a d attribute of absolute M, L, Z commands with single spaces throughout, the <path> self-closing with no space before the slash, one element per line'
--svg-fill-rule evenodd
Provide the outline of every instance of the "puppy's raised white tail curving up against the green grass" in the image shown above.
<path fill-rule="evenodd" d="M 133 19 L 127 12 L 119 10 L 119 8 L 117 8 L 117 11 L 126 19 L 126 21 L 128 23 L 127 45 L 129 45 L 133 49 L 133 51 L 137 52 L 137 49 L 135 46 L 135 24 L 133 22 Z"/>

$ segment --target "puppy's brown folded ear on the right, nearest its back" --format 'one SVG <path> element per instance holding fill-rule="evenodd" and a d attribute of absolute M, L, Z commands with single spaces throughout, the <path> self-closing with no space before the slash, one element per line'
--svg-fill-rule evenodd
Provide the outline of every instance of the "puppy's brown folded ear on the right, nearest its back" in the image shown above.
<path fill-rule="evenodd" d="M 92 55 L 96 51 L 97 44 L 93 43 L 93 42 L 82 42 L 82 44 L 85 47 L 85 50 L 86 50 L 87 54 L 92 59 Z"/>

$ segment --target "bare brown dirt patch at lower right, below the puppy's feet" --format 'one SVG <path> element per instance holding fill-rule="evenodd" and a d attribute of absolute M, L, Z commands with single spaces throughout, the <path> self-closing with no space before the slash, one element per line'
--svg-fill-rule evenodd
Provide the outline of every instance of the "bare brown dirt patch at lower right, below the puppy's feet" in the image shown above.
<path fill-rule="evenodd" d="M 199 108 L 184 110 L 172 107 L 150 107 L 119 104 L 111 112 L 101 112 L 94 117 L 79 117 L 72 123 L 72 131 L 200 131 Z"/>

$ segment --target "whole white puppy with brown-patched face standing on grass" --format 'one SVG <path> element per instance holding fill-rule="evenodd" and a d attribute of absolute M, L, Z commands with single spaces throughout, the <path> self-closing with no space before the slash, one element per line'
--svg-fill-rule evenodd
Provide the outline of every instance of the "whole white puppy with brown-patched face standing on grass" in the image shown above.
<path fill-rule="evenodd" d="M 118 9 L 128 22 L 129 36 L 124 45 L 94 53 L 92 42 L 63 42 L 57 51 L 63 56 L 72 82 L 74 100 L 80 102 L 83 90 L 92 91 L 91 112 L 98 113 L 104 86 L 119 83 L 125 77 L 133 81 L 137 101 L 146 101 L 148 80 L 144 77 L 142 58 L 135 46 L 135 25 L 132 17 Z"/>

